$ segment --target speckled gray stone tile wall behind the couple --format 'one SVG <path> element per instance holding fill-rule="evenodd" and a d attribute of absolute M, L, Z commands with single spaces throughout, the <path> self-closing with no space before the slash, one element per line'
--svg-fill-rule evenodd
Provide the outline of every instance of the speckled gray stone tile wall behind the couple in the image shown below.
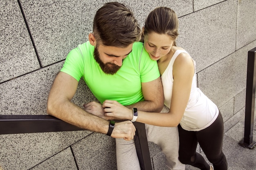
<path fill-rule="evenodd" d="M 0 115 L 45 115 L 67 53 L 88 40 L 94 13 L 109 0 L 0 2 Z M 247 51 L 256 47 L 255 0 L 119 0 L 141 26 L 158 6 L 176 11 L 177 44 L 196 61 L 198 87 L 215 102 L 225 131 L 243 119 Z M 86 84 L 72 101 L 97 101 Z M 155 170 L 163 155 L 149 144 Z M 112 155 L 109 157 L 109 155 Z M 0 169 L 116 169 L 115 140 L 90 131 L 0 135 Z"/>

